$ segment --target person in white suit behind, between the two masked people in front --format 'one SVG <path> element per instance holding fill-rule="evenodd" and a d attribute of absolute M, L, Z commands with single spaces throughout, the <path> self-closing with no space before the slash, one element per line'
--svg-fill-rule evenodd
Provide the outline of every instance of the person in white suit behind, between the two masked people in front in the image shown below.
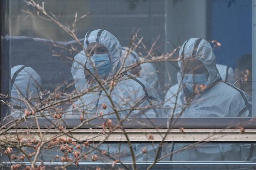
<path fill-rule="evenodd" d="M 131 66 L 141 61 L 139 54 L 136 51 L 130 51 L 127 47 L 122 47 L 123 60 L 125 60 L 124 66 Z M 156 69 L 152 63 L 142 63 L 137 67 L 132 68 L 128 72 L 140 77 L 148 82 L 152 87 L 156 88 L 158 77 Z"/>

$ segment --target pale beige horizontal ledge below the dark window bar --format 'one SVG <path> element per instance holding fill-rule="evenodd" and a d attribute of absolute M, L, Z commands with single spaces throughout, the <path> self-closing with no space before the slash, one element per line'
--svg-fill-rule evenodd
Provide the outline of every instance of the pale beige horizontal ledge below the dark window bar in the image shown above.
<path fill-rule="evenodd" d="M 103 134 L 102 129 L 76 129 L 70 132 L 74 141 L 103 141 L 109 135 L 109 130 Z M 146 141 L 162 141 L 168 129 L 125 129 L 130 141 L 146 142 Z M 41 129 L 44 140 L 48 140 L 60 134 L 58 129 Z M 12 129 L 0 136 L 0 140 L 17 141 L 17 134 L 23 140 L 28 138 L 38 138 L 39 130 L 33 129 Z M 154 139 L 150 140 L 148 135 L 151 134 Z M 67 137 L 62 135 L 60 137 Z M 124 133 L 119 129 L 111 132 L 106 142 L 126 141 Z M 165 141 L 256 141 L 256 129 L 171 129 L 168 132 Z"/>

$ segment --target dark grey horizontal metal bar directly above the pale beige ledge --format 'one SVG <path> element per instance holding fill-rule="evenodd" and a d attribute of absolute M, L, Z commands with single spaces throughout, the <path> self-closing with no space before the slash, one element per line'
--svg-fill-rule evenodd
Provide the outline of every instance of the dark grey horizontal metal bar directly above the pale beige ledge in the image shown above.
<path fill-rule="evenodd" d="M 116 118 L 111 120 L 114 126 L 119 124 Z M 10 121 L 11 119 L 4 120 L 2 126 Z M 80 119 L 65 119 L 64 121 L 66 124 L 56 119 L 38 119 L 39 126 L 42 129 L 50 127 L 52 123 L 61 124 L 67 129 L 74 128 L 81 124 Z M 102 123 L 106 121 L 108 121 L 108 119 L 94 119 L 84 123 L 80 129 L 100 128 Z M 125 120 L 123 125 L 125 128 L 168 128 L 172 126 L 168 118 L 151 118 L 150 120 L 146 118 L 129 119 Z M 179 118 L 173 128 L 237 128 L 241 126 L 244 128 L 256 128 L 256 118 Z M 36 121 L 34 119 L 28 119 L 26 122 L 21 122 L 19 125 L 15 126 L 15 129 L 17 128 L 37 128 Z"/>

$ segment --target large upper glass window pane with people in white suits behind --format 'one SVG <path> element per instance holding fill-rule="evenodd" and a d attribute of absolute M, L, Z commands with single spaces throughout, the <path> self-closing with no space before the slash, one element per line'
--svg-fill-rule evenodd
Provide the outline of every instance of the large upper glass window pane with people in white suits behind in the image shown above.
<path fill-rule="evenodd" d="M 29 2 L 2 2 L 7 117 L 254 116 L 252 1 Z"/>

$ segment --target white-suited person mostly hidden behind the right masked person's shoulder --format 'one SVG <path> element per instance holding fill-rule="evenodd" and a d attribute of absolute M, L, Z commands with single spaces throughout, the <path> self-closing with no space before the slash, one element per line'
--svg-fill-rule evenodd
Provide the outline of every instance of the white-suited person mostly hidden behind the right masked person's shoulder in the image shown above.
<path fill-rule="evenodd" d="M 216 64 L 216 67 L 220 73 L 220 77 L 223 81 L 233 85 L 234 81 L 234 70 L 231 67 L 222 64 Z"/>

